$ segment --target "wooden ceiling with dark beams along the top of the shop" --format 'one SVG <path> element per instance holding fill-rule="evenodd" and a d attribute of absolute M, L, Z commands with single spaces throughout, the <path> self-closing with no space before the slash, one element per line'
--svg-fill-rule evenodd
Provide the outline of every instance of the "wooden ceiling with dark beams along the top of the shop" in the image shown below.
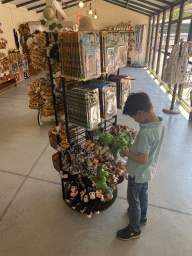
<path fill-rule="evenodd" d="M 83 0 L 84 3 L 91 0 Z M 128 10 L 141 13 L 147 16 L 152 16 L 156 13 L 168 9 L 171 5 L 175 5 L 181 0 L 103 0 L 110 4 L 126 8 Z M 46 6 L 46 0 L 1 0 L 2 4 L 13 3 L 17 8 L 26 7 L 29 11 L 34 10 L 37 13 L 43 12 Z M 59 2 L 59 0 L 58 0 Z M 73 6 L 78 6 L 79 0 L 62 0 L 63 9 L 68 9 Z"/>

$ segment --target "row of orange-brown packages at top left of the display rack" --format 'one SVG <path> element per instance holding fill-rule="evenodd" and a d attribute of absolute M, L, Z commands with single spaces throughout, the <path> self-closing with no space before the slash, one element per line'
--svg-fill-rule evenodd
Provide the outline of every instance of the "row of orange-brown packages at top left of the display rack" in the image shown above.
<path fill-rule="evenodd" d="M 66 78 L 87 80 L 101 75 L 98 32 L 63 32 L 58 38 Z"/>

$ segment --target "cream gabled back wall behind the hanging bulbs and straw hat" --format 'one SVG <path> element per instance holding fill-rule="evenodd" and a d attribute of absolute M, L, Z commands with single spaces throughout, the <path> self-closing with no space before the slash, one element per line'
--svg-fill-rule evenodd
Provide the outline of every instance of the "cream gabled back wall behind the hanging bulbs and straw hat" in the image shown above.
<path fill-rule="evenodd" d="M 68 16 L 69 20 L 72 20 L 74 21 L 74 23 L 76 23 L 77 21 L 76 14 L 82 14 L 82 15 L 88 16 L 90 3 L 92 3 L 92 9 L 95 10 L 95 1 L 92 1 L 92 2 L 88 2 L 87 7 L 84 9 L 80 9 L 78 6 L 75 6 L 69 9 L 65 9 L 64 11 Z M 147 25 L 147 29 L 145 30 L 145 44 L 144 44 L 143 53 L 139 56 L 139 61 L 141 61 L 144 64 L 149 17 L 137 12 L 127 10 L 117 5 L 110 4 L 102 0 L 98 0 L 96 2 L 96 10 L 99 15 L 99 19 L 98 20 L 93 19 L 93 23 L 95 27 L 99 30 L 103 29 L 106 26 L 110 26 L 110 25 L 115 26 L 121 22 L 127 23 L 128 21 L 131 21 L 131 24 L 134 27 L 137 24 Z M 134 38 L 136 41 L 136 34 L 134 35 Z M 134 63 L 135 61 L 138 61 L 138 54 L 136 55 L 136 52 L 135 52 L 135 44 L 134 44 L 134 49 L 130 54 L 130 57 L 132 59 L 132 63 Z"/>

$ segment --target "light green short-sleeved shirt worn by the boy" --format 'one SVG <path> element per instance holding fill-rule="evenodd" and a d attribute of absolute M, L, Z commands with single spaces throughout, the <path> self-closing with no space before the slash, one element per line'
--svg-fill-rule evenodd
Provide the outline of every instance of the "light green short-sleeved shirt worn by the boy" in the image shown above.
<path fill-rule="evenodd" d="M 149 155 L 146 164 L 139 164 L 132 160 L 127 161 L 127 173 L 132 178 L 135 176 L 136 183 L 148 182 L 156 172 L 165 131 L 163 119 L 159 117 L 159 120 L 160 122 L 141 123 L 136 140 L 130 149 L 130 153 L 134 155 L 139 153 Z"/>

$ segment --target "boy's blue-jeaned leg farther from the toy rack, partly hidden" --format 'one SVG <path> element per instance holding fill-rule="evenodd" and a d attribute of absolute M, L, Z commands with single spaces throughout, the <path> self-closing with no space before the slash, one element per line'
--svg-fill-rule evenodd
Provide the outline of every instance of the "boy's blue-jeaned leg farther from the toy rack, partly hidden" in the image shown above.
<path fill-rule="evenodd" d="M 148 208 L 148 182 L 143 184 L 143 187 L 139 195 L 140 206 L 141 206 L 141 219 L 144 219 L 147 216 Z"/>

